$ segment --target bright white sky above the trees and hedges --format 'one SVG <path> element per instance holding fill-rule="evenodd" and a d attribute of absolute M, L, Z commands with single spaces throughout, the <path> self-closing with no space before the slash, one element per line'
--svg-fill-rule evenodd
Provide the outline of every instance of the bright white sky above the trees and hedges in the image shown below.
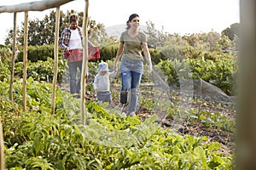
<path fill-rule="evenodd" d="M 0 0 L 0 6 L 29 3 L 40 0 Z M 43 1 L 43 0 L 42 0 Z M 75 0 L 61 6 L 66 14 L 67 10 L 84 11 L 85 1 Z M 28 12 L 28 19 L 43 20 L 50 8 L 40 12 Z M 218 31 L 219 33 L 230 27 L 231 24 L 240 23 L 239 0 L 89 0 L 90 20 L 103 24 L 106 28 L 116 25 L 125 25 L 130 14 L 140 16 L 140 25 L 147 26 L 151 21 L 158 30 L 164 29 L 168 33 L 180 35 Z M 0 44 L 9 29 L 14 26 L 14 14 L 0 13 Z M 17 13 L 17 26 L 24 21 L 24 13 Z"/>

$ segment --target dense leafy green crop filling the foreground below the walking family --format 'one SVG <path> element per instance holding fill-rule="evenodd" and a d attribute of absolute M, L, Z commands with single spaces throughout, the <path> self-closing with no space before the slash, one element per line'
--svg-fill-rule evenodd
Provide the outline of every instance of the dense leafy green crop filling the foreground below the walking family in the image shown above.
<path fill-rule="evenodd" d="M 118 108 L 86 102 L 86 125 L 79 124 L 79 99 L 57 88 L 55 115 L 51 114 L 52 87 L 27 79 L 27 111 L 22 111 L 22 81 L 0 82 L 8 169 L 232 169 L 233 156 L 207 137 L 177 134 L 157 124 L 125 116 Z"/>

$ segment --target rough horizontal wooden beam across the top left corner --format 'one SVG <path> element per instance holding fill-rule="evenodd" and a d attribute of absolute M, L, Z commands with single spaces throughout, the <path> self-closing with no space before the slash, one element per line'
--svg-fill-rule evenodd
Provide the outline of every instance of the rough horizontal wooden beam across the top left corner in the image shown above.
<path fill-rule="evenodd" d="M 42 0 L 31 3 L 20 3 L 16 5 L 0 6 L 0 13 L 15 13 L 23 11 L 44 11 L 49 8 L 56 8 L 73 0 Z"/>

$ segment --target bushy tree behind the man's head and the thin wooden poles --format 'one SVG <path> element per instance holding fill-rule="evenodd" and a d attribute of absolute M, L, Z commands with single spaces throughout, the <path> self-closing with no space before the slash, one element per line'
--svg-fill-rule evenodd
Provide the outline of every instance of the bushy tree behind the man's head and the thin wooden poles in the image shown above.
<path fill-rule="evenodd" d="M 84 12 L 77 13 L 74 10 L 68 11 L 64 14 L 61 11 L 60 17 L 60 32 L 64 30 L 65 27 L 69 26 L 69 15 L 78 14 L 79 15 L 79 26 L 82 27 Z M 23 45 L 23 23 L 21 27 L 17 29 L 17 43 Z M 5 39 L 5 44 L 11 44 L 13 40 L 13 29 L 9 30 L 8 37 Z M 44 45 L 44 44 L 54 44 L 55 42 L 55 11 L 50 11 L 49 15 L 46 14 L 43 20 L 29 20 L 28 22 L 28 42 L 27 45 Z M 89 39 L 90 42 L 98 44 L 102 41 L 102 37 L 107 37 L 105 27 L 103 24 L 96 23 L 96 20 L 90 20 L 89 28 Z"/>

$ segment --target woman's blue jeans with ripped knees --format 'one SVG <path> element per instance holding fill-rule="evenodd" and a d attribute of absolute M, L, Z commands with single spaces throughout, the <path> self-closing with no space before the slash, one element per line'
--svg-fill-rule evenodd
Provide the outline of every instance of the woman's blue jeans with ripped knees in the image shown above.
<path fill-rule="evenodd" d="M 129 102 L 128 112 L 136 111 L 137 100 L 138 100 L 138 88 L 143 76 L 143 61 L 121 61 L 121 79 L 122 88 L 120 92 L 120 101 L 124 101 L 125 104 L 127 100 L 127 92 L 131 91 L 131 99 Z M 124 99 L 125 98 L 125 99 Z"/>

